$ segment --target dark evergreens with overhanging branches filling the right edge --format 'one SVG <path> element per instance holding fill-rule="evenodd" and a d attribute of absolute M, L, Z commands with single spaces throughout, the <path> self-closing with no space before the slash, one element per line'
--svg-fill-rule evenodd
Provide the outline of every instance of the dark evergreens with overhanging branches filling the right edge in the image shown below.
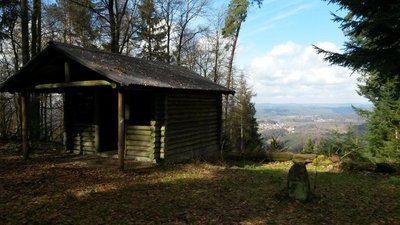
<path fill-rule="evenodd" d="M 368 149 L 374 160 L 398 161 L 400 109 L 400 0 L 330 0 L 348 11 L 335 21 L 348 41 L 343 53 L 318 49 L 332 64 L 359 72 L 359 94 L 374 104 L 372 112 L 358 110 L 367 120 Z"/>

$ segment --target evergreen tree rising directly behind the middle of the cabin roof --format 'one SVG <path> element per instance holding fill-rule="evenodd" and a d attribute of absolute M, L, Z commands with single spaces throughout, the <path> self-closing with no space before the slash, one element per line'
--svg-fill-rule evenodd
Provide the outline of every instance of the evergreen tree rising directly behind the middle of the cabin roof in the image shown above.
<path fill-rule="evenodd" d="M 140 24 L 138 29 L 142 49 L 140 55 L 148 60 L 168 61 L 166 52 L 166 31 L 157 15 L 153 0 L 143 0 L 139 8 Z"/>

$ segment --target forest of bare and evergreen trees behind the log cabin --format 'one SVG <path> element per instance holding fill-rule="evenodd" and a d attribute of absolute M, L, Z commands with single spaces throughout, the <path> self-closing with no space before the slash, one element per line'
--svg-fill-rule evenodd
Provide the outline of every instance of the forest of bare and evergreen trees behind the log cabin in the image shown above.
<path fill-rule="evenodd" d="M 262 150 L 253 92 L 235 67 L 240 27 L 261 0 L 10 0 L 0 3 L 0 83 L 49 41 L 187 67 L 236 92 L 223 102 L 223 148 Z M 19 96 L 0 93 L 0 140 L 20 138 Z M 31 94 L 30 139 L 62 142 L 63 95 Z"/>

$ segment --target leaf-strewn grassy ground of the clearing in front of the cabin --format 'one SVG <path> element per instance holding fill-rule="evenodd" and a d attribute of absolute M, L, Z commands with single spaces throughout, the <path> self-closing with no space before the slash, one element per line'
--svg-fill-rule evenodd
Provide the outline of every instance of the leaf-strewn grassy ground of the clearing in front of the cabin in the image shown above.
<path fill-rule="evenodd" d="M 317 201 L 275 197 L 291 163 L 193 163 L 120 172 L 71 155 L 0 154 L 3 224 L 396 224 L 398 177 L 318 168 Z"/>

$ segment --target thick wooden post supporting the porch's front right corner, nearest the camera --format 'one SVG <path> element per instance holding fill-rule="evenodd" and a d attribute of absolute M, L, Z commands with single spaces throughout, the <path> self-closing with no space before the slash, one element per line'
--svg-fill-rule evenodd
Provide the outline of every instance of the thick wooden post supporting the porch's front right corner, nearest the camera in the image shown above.
<path fill-rule="evenodd" d="M 125 109 L 124 93 L 118 90 L 118 159 L 119 168 L 125 167 Z"/>

